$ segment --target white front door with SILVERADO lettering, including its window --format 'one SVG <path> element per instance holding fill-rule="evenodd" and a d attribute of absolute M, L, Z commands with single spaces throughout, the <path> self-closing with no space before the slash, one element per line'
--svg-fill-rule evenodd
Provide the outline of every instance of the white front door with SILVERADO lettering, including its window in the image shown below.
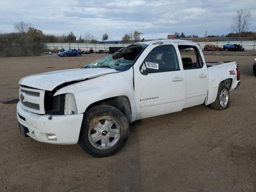
<path fill-rule="evenodd" d="M 176 54 L 178 47 L 168 44 L 148 48 L 149 54 L 141 56 L 134 68 L 137 119 L 180 111 L 185 100 L 185 76 Z"/>

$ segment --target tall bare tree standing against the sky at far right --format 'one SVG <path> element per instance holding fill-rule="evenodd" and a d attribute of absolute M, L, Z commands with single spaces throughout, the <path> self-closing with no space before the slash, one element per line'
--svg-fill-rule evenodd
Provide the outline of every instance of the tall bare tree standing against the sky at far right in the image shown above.
<path fill-rule="evenodd" d="M 242 32 L 248 29 L 248 26 L 251 24 L 252 14 L 248 10 L 237 10 L 236 16 L 233 17 L 234 23 L 231 25 L 231 29 L 233 32 L 239 34 L 239 37 Z"/>

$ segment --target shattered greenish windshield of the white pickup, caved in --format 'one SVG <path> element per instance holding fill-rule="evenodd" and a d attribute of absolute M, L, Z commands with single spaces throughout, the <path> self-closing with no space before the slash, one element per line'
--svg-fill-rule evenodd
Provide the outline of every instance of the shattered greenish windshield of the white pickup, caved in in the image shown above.
<path fill-rule="evenodd" d="M 82 68 L 112 68 L 118 71 L 132 67 L 136 57 L 146 48 L 146 44 L 132 44 L 114 54 L 85 65 Z"/>

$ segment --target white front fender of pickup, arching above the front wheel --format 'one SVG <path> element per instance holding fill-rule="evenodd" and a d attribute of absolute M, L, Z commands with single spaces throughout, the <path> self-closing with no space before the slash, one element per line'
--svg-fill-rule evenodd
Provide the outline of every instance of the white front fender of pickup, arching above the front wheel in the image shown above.
<path fill-rule="evenodd" d="M 136 118 L 136 107 L 132 82 L 133 71 L 131 68 L 124 72 L 106 74 L 66 86 L 58 90 L 54 96 L 65 93 L 74 94 L 78 114 L 84 113 L 88 106 L 100 100 L 127 96 L 132 109 L 132 120 L 134 120 Z"/>

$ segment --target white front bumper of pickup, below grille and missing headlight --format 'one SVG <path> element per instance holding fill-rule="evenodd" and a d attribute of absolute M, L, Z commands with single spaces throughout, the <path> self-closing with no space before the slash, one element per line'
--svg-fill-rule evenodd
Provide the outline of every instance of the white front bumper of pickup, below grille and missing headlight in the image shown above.
<path fill-rule="evenodd" d="M 51 144 L 76 144 L 78 142 L 83 114 L 74 115 L 40 115 L 24 110 L 18 102 L 17 119 L 20 124 L 28 128 L 26 133 L 31 138 Z M 46 133 L 55 134 L 57 140 L 49 140 Z"/>

